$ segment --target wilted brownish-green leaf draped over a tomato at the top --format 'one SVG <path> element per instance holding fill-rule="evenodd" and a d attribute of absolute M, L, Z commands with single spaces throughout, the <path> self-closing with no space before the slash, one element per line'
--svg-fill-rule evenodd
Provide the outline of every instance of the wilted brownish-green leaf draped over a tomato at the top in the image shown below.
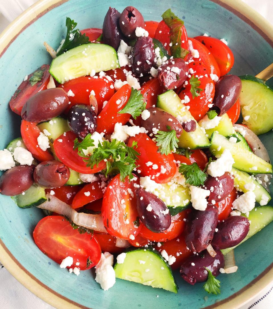
<path fill-rule="evenodd" d="M 162 15 L 164 22 L 170 28 L 171 54 L 174 58 L 184 58 L 188 54 L 188 50 L 181 47 L 182 32 L 184 21 L 178 18 L 171 9 L 165 11 Z"/>

